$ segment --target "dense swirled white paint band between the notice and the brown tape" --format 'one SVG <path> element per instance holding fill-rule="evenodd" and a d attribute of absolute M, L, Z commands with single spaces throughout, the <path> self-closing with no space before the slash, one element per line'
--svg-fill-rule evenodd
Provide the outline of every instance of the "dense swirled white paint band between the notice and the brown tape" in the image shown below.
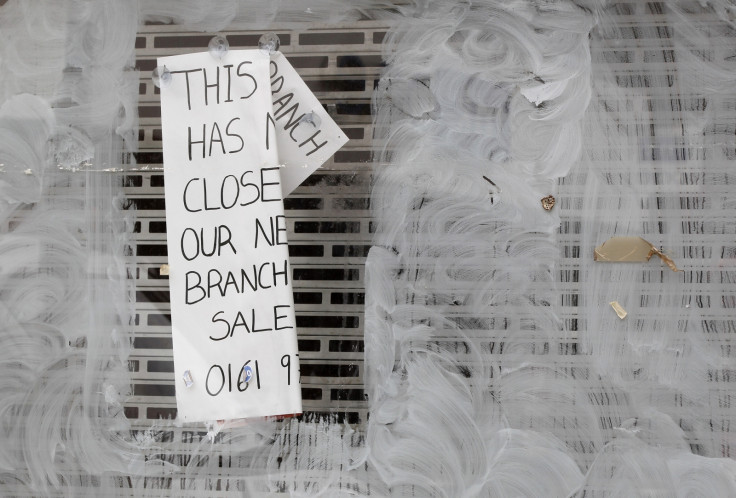
<path fill-rule="evenodd" d="M 559 218 L 539 202 L 581 148 L 592 26 L 567 3 L 435 2 L 388 37 L 366 363 L 369 462 L 392 493 L 566 496 L 582 472 L 565 440 L 601 442 L 544 352 Z"/>

